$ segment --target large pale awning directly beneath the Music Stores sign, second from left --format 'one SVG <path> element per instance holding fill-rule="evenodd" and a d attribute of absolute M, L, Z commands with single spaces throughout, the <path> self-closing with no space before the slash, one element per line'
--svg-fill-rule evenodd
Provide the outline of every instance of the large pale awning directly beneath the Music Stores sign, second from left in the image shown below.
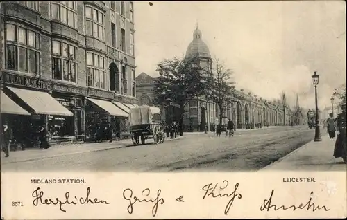
<path fill-rule="evenodd" d="M 62 104 L 49 95 L 49 93 L 12 87 L 8 87 L 8 89 L 15 93 L 26 104 L 28 104 L 28 106 L 31 107 L 36 114 L 74 116 L 71 111 L 63 107 Z"/>

